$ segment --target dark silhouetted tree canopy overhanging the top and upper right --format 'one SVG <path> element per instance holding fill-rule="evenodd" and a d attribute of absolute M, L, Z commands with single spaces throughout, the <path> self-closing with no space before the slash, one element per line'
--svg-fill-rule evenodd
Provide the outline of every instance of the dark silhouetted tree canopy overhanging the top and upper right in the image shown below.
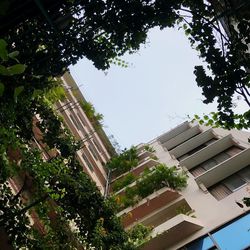
<path fill-rule="evenodd" d="M 107 69 L 114 58 L 138 50 L 149 29 L 179 26 L 207 63 L 206 69 L 196 66 L 194 73 L 204 102 L 217 99 L 222 123 L 234 124 L 234 94 L 250 103 L 247 0 L 238 5 L 227 0 L 224 5 L 216 0 L 13 0 L 6 6 L 0 32 L 12 49 L 18 48 L 29 75 L 60 75 L 82 57 Z M 222 19 L 228 21 L 228 34 Z"/>

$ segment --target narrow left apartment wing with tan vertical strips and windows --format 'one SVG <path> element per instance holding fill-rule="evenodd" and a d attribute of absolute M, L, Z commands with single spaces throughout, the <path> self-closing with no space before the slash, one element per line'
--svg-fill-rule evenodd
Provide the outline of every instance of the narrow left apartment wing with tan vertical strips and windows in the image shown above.
<path fill-rule="evenodd" d="M 66 98 L 56 104 L 56 110 L 63 117 L 65 126 L 82 143 L 81 149 L 76 154 L 83 171 L 92 178 L 104 194 L 107 182 L 105 164 L 115 153 L 114 149 L 101 125 L 95 126 L 84 112 L 82 103 L 86 100 L 70 73 L 65 73 L 61 80 Z M 98 123 L 98 121 L 95 122 Z"/>

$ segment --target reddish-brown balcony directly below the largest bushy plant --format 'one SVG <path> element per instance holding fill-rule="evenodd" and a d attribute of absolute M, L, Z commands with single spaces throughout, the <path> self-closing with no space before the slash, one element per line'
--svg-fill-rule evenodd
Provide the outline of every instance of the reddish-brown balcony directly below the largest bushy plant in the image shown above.
<path fill-rule="evenodd" d="M 191 210 L 183 199 L 178 199 L 180 197 L 179 192 L 165 187 L 144 198 L 136 206 L 124 209 L 118 216 L 122 217 L 125 228 L 131 227 L 139 221 L 145 222 L 145 225 L 156 226 L 162 222 L 161 219 L 164 215 L 172 217 L 173 213 L 176 214 L 176 209 L 180 205 L 185 205 L 187 210 Z M 163 218 L 163 220 L 166 220 L 167 217 Z"/>

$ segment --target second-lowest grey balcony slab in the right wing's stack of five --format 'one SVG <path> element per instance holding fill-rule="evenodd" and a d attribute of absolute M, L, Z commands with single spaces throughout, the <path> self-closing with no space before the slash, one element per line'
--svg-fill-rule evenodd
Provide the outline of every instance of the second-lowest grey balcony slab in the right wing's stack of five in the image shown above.
<path fill-rule="evenodd" d="M 180 161 L 180 165 L 184 166 L 186 169 L 191 169 L 199 165 L 200 163 L 212 158 L 213 156 L 217 155 L 218 153 L 223 152 L 224 150 L 228 149 L 230 146 L 234 145 L 234 141 L 231 135 L 227 135 L 222 139 L 214 142 L 211 145 L 201 149 L 200 151 L 196 152 L 195 154 L 190 155 L 189 157 L 185 158 L 184 160 Z"/>

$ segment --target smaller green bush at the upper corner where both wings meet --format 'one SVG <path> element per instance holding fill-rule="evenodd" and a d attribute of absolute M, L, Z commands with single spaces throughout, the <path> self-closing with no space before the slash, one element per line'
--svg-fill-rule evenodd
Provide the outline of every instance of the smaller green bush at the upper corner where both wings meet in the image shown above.
<path fill-rule="evenodd" d="M 120 175 L 137 166 L 138 162 L 137 150 L 135 147 L 131 147 L 124 150 L 120 155 L 113 157 L 106 166 L 116 175 Z"/>

